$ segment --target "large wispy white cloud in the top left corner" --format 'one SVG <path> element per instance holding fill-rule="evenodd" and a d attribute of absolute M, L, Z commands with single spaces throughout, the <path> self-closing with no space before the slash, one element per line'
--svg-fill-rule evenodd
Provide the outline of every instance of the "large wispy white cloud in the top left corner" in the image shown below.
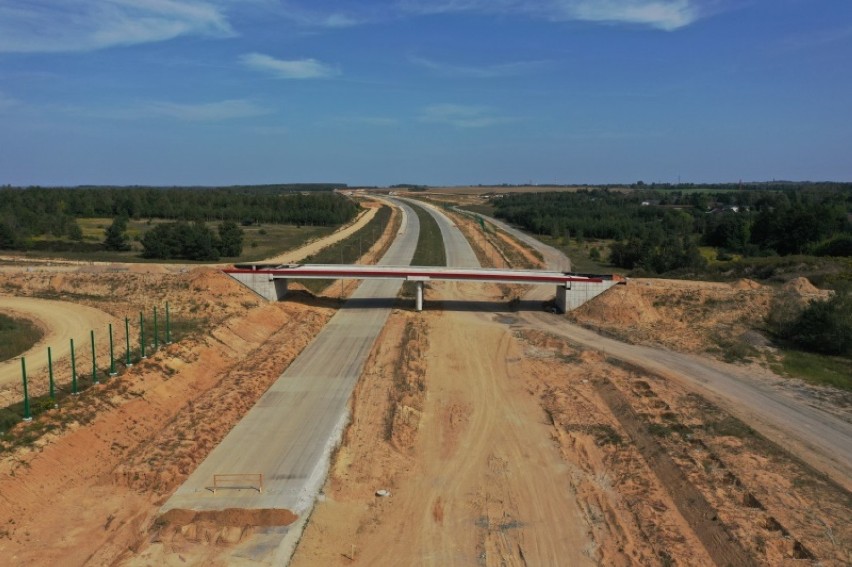
<path fill-rule="evenodd" d="M 204 0 L 0 0 L 0 52 L 91 51 L 182 35 L 234 30 Z"/>

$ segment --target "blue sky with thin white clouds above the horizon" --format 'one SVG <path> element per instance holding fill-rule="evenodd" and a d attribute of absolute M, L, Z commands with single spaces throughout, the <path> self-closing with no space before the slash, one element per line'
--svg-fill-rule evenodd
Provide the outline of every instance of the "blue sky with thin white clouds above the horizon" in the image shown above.
<path fill-rule="evenodd" d="M 849 0 L 0 0 L 0 184 L 852 180 Z"/>

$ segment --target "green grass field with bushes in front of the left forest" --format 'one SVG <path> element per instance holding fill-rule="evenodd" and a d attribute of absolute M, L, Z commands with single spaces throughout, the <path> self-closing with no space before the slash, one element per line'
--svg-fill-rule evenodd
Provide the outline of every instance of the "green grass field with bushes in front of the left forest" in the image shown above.
<path fill-rule="evenodd" d="M 112 223 L 109 218 L 78 219 L 78 224 L 83 231 L 83 242 L 89 245 L 103 242 L 104 231 Z M 103 262 L 146 262 L 141 257 L 141 239 L 146 232 L 156 225 L 170 222 L 161 219 L 131 220 L 127 224 L 127 235 L 130 237 L 131 250 L 128 252 L 109 252 L 99 250 L 95 252 L 48 252 L 30 251 L 32 256 L 61 256 L 73 260 L 103 261 Z M 211 229 L 216 230 L 218 223 L 207 223 Z M 239 258 L 225 258 L 228 262 L 254 262 L 275 256 L 287 250 L 298 248 L 311 240 L 322 238 L 331 234 L 337 227 L 331 226 L 302 226 L 284 224 L 262 224 L 241 227 L 245 233 L 243 239 L 243 253 Z M 157 263 L 163 260 L 154 260 Z M 176 261 L 185 263 L 185 260 Z"/>

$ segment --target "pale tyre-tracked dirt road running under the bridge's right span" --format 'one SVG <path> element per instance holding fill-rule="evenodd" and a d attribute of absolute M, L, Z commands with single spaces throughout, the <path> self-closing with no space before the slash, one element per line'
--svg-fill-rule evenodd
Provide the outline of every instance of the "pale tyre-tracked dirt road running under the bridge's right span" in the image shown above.
<path fill-rule="evenodd" d="M 382 517 L 394 537 L 365 538 L 359 564 L 592 564 L 568 467 L 520 380 L 517 342 L 475 313 L 433 314 L 430 327 L 416 471 Z"/>

